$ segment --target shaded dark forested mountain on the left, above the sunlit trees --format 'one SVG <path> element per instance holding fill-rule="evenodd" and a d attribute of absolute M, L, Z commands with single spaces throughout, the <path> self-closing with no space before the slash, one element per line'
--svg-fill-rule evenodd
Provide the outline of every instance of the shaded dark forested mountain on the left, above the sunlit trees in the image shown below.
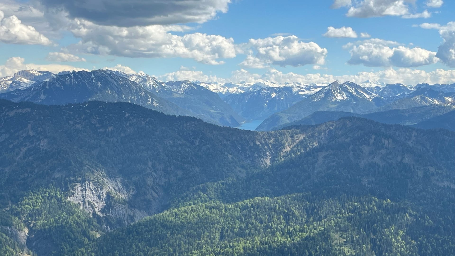
<path fill-rule="evenodd" d="M 76 201 L 91 198 L 86 189 L 100 190 L 105 195 L 99 205 L 86 205 L 94 212 L 112 192 L 140 210 L 128 214 L 152 214 L 179 188 L 266 167 L 279 144 L 129 103 L 42 106 L 3 100 L 1 108 L 2 200 L 46 184 L 74 187 Z"/>

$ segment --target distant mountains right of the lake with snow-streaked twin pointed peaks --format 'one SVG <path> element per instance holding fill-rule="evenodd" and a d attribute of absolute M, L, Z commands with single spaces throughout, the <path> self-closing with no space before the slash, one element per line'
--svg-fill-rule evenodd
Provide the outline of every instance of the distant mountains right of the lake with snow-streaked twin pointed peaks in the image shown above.
<path fill-rule="evenodd" d="M 360 116 L 360 114 L 366 113 L 404 110 L 421 106 L 447 106 L 454 101 L 455 93 L 435 91 L 432 87 L 415 89 L 402 84 L 388 84 L 379 89 L 378 87 L 364 88 L 351 82 L 344 84 L 335 82 L 296 103 L 293 107 L 265 119 L 257 130 L 285 127 L 289 123 L 318 111 L 348 112 Z M 387 120 L 387 118 L 382 119 Z"/>

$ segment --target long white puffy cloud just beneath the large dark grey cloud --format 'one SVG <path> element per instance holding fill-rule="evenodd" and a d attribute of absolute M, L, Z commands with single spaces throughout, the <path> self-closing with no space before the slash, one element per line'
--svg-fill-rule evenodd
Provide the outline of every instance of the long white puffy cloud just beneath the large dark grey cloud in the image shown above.
<path fill-rule="evenodd" d="M 169 31 L 185 31 L 185 26 L 101 26 L 90 21 L 77 20 L 71 29 L 81 38 L 68 46 L 69 51 L 125 57 L 182 57 L 217 65 L 222 58 L 236 56 L 234 40 L 202 33 L 177 36 Z"/>

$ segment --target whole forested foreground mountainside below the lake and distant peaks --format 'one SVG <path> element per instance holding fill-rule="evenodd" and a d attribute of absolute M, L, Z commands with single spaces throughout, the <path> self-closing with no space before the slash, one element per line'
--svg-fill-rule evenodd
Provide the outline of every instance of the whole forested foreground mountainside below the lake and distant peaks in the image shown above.
<path fill-rule="evenodd" d="M 350 117 L 257 133 L 122 102 L 5 100 L 0 124 L 13 251 L 455 255 L 450 131 Z"/>

